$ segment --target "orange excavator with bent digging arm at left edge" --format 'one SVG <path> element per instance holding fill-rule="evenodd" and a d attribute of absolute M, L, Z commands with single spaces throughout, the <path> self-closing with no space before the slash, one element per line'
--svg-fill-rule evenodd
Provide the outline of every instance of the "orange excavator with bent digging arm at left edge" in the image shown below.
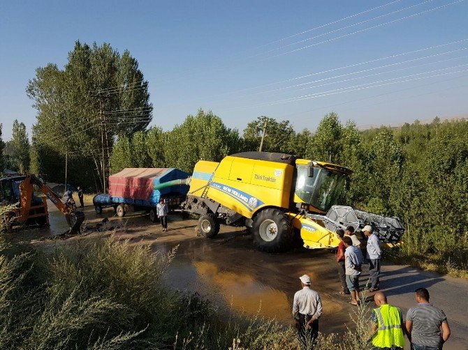
<path fill-rule="evenodd" d="M 19 207 L 10 213 L 11 216 L 15 217 L 14 225 L 24 225 L 31 221 L 38 225 L 44 225 L 48 222 L 45 198 L 38 199 L 38 197 L 34 196 L 34 185 L 36 185 L 52 201 L 54 206 L 57 206 L 59 211 L 65 215 L 68 226 L 70 226 L 68 234 L 80 232 L 81 224 L 85 220 L 85 214 L 81 211 L 75 211 L 75 206 L 62 200 L 57 193 L 52 191 L 44 181 L 34 174 L 15 176 L 15 178 L 2 178 L 0 185 L 3 203 L 20 202 Z"/>

